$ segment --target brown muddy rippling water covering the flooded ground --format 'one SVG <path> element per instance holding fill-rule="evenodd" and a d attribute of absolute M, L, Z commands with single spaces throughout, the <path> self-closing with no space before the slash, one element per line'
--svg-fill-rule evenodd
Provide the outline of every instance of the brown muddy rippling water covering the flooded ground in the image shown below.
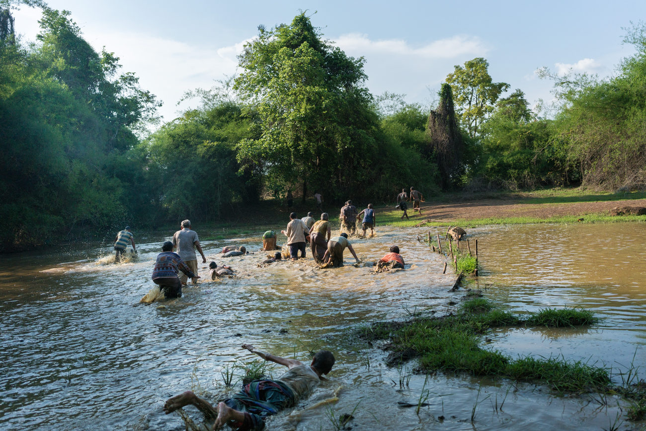
<path fill-rule="evenodd" d="M 467 229 L 479 240 L 481 277 L 472 286 L 486 287 L 490 299 L 515 311 L 581 306 L 603 319 L 594 328 L 496 331 L 488 348 L 512 357 L 558 355 L 616 372 L 633 358 L 643 364 L 645 227 Z M 643 426 L 621 423 L 625 402 L 610 395 L 558 396 L 543 385 L 442 374 L 425 380 L 412 374 L 414 363 L 386 368 L 384 353 L 353 337 L 352 328 L 417 312 L 448 313 L 455 308 L 449 302 L 464 295 L 448 291 L 455 275 L 442 275 L 443 259 L 417 242 L 428 230 L 380 227 L 376 238 L 353 240 L 364 261 L 400 246 L 407 269 L 378 275 L 353 266 L 319 270 L 309 259 L 258 268 L 266 255 L 257 252 L 261 233 L 203 241 L 207 259 L 218 263 L 224 262 L 218 249 L 228 244 L 256 253 L 226 260 L 236 270 L 233 279 L 202 279 L 181 299 L 151 305 L 138 301 L 153 286 L 154 259 L 172 232 L 139 235 L 140 258 L 118 265 L 101 258 L 109 247 L 3 256 L 0 428 L 182 430 L 177 414 L 161 411 L 165 399 L 191 388 L 211 401 L 226 394 L 231 389 L 222 372 L 240 375 L 236 366 L 255 359 L 240 349 L 243 342 L 302 361 L 319 348 L 337 356 L 329 380 L 269 419 L 267 429 L 331 430 L 344 413 L 353 414 L 355 430 Z M 202 276 L 206 268 L 200 264 Z M 281 371 L 270 370 L 274 377 Z M 419 413 L 397 404 L 420 400 L 427 405 Z"/>

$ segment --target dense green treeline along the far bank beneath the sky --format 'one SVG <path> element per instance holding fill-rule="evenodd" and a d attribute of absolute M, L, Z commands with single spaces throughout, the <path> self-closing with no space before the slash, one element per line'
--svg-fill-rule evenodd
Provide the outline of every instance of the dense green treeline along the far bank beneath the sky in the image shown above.
<path fill-rule="evenodd" d="M 14 36 L 17 4 L 43 8 L 36 43 Z M 125 223 L 220 220 L 232 205 L 288 189 L 376 203 L 411 185 L 426 195 L 641 185 L 643 162 L 631 170 L 623 151 L 630 143 L 635 157 L 644 154 L 638 80 L 646 51 L 641 33 L 632 37 L 641 50 L 623 76 L 558 81 L 564 103 L 546 120 L 521 90 L 501 97 L 509 85 L 494 83 L 481 58 L 455 67 L 433 109 L 375 97 L 364 59 L 346 56 L 300 14 L 289 25 L 260 26 L 240 54 L 239 76 L 187 92 L 198 107 L 147 132 L 159 103 L 134 74 L 120 73 L 115 54 L 90 47 L 68 12 L 0 0 L 0 249 Z M 625 104 L 628 96 L 639 104 Z M 621 179 L 600 174 L 620 165 Z"/>

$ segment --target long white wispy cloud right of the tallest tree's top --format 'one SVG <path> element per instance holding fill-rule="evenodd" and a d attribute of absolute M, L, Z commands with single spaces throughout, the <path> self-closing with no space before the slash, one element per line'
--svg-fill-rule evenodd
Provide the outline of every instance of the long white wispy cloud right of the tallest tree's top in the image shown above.
<path fill-rule="evenodd" d="M 350 33 L 339 36 L 337 45 L 343 50 L 422 58 L 455 58 L 464 54 L 484 54 L 487 49 L 478 37 L 453 36 L 412 47 L 403 39 L 373 41 L 366 34 Z"/>

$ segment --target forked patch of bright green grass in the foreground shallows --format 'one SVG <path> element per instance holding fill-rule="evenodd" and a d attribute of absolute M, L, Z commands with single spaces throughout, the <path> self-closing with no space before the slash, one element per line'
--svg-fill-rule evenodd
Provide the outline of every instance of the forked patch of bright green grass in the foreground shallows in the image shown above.
<path fill-rule="evenodd" d="M 605 390 L 610 384 L 607 368 L 566 361 L 562 357 L 512 359 L 495 350 L 481 348 L 481 336 L 501 326 L 575 326 L 598 320 L 588 310 L 563 308 L 530 313 L 528 319 L 496 307 L 484 298 L 463 302 L 455 315 L 415 318 L 363 326 L 360 335 L 369 339 L 391 339 L 393 359 L 419 358 L 421 371 L 468 373 L 539 381 L 557 392 Z M 407 352 L 406 355 L 399 355 Z M 413 353 L 411 353 L 413 352 Z"/>

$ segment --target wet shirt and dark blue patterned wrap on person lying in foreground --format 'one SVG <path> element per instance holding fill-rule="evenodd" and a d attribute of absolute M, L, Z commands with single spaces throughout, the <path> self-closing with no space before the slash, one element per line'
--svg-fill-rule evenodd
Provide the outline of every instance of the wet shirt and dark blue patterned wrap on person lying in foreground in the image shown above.
<path fill-rule="evenodd" d="M 296 405 L 319 382 L 314 370 L 303 364 L 291 368 L 278 379 L 255 380 L 246 384 L 224 403 L 244 414 L 244 421 L 234 424 L 238 430 L 262 430 L 267 416 Z"/>

